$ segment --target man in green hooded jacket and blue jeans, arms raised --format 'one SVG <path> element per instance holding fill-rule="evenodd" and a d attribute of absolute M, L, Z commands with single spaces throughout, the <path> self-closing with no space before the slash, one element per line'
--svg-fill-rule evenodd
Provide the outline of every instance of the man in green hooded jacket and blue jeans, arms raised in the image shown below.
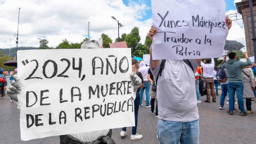
<path fill-rule="evenodd" d="M 247 52 L 244 53 L 247 62 L 237 61 L 235 53 L 229 53 L 229 60 L 225 62 L 226 57 L 224 57 L 223 62 L 219 66 L 220 69 L 227 69 L 228 72 L 228 88 L 229 88 L 229 111 L 228 114 L 233 115 L 234 110 L 234 96 L 235 91 L 237 92 L 238 105 L 240 106 L 241 116 L 246 116 L 244 105 L 243 105 L 243 79 L 242 79 L 242 68 L 244 66 L 252 65 L 251 60 L 247 56 Z"/>

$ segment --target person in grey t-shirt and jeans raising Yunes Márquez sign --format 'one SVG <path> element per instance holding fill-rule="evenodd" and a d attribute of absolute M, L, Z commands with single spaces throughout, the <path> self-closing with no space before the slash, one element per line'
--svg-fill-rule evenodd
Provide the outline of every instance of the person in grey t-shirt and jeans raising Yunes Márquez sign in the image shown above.
<path fill-rule="evenodd" d="M 228 30 L 232 21 L 226 17 Z M 149 38 L 157 30 L 151 26 Z M 157 85 L 158 139 L 160 144 L 199 143 L 199 115 L 195 92 L 195 71 L 201 59 L 153 60 L 150 69 Z"/>

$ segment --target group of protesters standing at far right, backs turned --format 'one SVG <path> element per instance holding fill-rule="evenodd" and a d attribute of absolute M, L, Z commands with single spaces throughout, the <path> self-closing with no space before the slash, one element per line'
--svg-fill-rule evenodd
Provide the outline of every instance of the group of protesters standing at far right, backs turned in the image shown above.
<path fill-rule="evenodd" d="M 229 111 L 228 114 L 233 115 L 235 109 L 235 95 L 238 99 L 238 108 L 241 116 L 246 116 L 247 113 L 254 113 L 251 109 L 251 102 L 254 102 L 255 98 L 255 70 L 256 65 L 252 63 L 248 58 L 247 53 L 244 53 L 245 59 L 237 60 L 235 53 L 229 53 L 229 60 L 224 57 L 223 62 L 218 66 L 214 65 L 214 59 L 205 59 L 204 63 L 201 62 L 201 68 L 203 70 L 203 78 L 205 78 L 207 86 L 207 98 L 205 102 L 210 102 L 210 96 L 212 95 L 212 102 L 216 102 L 216 95 L 218 95 L 218 86 L 221 85 L 221 97 L 219 109 L 223 110 L 224 101 L 227 95 L 229 95 Z M 219 71 L 219 72 L 218 72 Z M 222 79 L 220 78 L 222 74 Z M 196 82 L 197 83 L 197 82 Z M 215 90 L 214 90 L 215 85 Z M 196 87 L 197 91 L 197 87 Z M 244 101 L 246 99 L 246 109 L 244 109 Z M 200 103 L 200 102 L 198 102 Z"/>

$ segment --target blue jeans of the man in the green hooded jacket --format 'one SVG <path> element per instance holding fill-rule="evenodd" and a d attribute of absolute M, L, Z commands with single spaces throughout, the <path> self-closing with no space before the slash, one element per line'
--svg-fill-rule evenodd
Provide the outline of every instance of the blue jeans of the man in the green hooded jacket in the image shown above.
<path fill-rule="evenodd" d="M 229 110 L 234 110 L 234 98 L 235 91 L 237 92 L 238 105 L 240 107 L 240 111 L 245 112 L 243 105 L 243 83 L 239 82 L 229 82 Z"/>

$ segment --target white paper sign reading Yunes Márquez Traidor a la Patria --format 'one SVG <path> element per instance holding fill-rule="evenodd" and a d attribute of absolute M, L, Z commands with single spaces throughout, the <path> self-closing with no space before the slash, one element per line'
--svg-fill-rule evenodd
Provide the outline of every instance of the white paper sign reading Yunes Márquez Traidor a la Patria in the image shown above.
<path fill-rule="evenodd" d="M 225 0 L 152 0 L 152 58 L 221 57 L 228 34 Z"/>

